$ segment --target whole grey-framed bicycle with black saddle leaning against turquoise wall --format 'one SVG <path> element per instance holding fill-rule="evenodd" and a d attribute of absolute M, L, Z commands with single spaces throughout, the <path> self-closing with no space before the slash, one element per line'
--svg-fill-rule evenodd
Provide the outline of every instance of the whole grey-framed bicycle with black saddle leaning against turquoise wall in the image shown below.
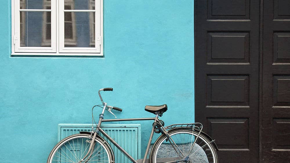
<path fill-rule="evenodd" d="M 61 140 L 50 152 L 47 163 L 114 163 L 115 156 L 112 148 L 99 136 L 102 133 L 113 145 L 115 145 L 126 157 L 134 163 L 173 163 L 173 162 L 206 162 L 218 163 L 217 145 L 209 135 L 202 132 L 202 124 L 172 124 L 164 127 L 164 122 L 159 119 L 167 111 L 167 105 L 145 106 L 145 111 L 155 114 L 152 118 L 128 118 L 128 119 L 104 119 L 104 112 L 115 114 L 112 110 L 121 111 L 121 108 L 107 105 L 100 94 L 101 91 L 113 91 L 113 88 L 103 88 L 99 90 L 99 97 L 103 108 L 99 115 L 99 122 L 96 123 L 92 108 L 92 131 L 81 131 L 79 134 L 71 135 Z M 115 118 L 117 118 L 115 116 Z M 116 121 L 139 121 L 154 120 L 151 135 L 148 140 L 144 159 L 135 160 L 129 155 L 113 138 L 102 130 L 102 122 Z M 94 130 L 94 122 L 96 129 Z M 161 133 L 152 146 L 149 159 L 147 155 L 151 146 L 154 133 Z"/>

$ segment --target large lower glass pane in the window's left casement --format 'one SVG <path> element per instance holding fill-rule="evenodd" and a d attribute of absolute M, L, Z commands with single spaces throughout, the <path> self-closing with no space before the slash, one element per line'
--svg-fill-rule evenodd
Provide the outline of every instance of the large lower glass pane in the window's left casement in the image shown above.
<path fill-rule="evenodd" d="M 20 46 L 51 47 L 50 12 L 20 11 Z"/>

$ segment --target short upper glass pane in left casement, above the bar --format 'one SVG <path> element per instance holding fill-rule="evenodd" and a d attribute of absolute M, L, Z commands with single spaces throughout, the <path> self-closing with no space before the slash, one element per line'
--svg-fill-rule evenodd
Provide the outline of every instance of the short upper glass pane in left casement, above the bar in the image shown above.
<path fill-rule="evenodd" d="M 50 9 L 51 1 L 48 0 L 20 0 L 20 9 Z"/>

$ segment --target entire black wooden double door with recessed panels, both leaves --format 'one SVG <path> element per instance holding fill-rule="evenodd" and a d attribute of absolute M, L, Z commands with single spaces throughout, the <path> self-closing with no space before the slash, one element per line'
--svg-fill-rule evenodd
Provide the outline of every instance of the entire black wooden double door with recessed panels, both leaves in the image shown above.
<path fill-rule="evenodd" d="M 288 161 L 289 44 L 289 0 L 195 0 L 195 121 L 221 163 Z"/>

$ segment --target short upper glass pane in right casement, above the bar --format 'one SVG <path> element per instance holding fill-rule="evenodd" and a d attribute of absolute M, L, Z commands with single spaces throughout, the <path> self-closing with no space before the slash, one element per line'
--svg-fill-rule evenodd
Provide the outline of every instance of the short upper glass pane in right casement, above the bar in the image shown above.
<path fill-rule="evenodd" d="M 95 1 L 93 0 L 64 0 L 64 6 L 72 6 L 72 10 L 94 10 Z M 65 10 L 70 10 L 66 9 Z"/>

